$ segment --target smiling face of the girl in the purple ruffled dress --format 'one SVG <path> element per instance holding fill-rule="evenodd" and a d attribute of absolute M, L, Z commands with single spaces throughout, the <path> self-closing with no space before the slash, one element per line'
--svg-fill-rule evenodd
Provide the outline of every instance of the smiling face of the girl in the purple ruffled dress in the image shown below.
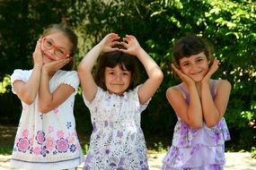
<path fill-rule="evenodd" d="M 183 57 L 180 60 L 181 71 L 194 81 L 201 81 L 209 69 L 209 61 L 204 52 L 190 57 Z"/>

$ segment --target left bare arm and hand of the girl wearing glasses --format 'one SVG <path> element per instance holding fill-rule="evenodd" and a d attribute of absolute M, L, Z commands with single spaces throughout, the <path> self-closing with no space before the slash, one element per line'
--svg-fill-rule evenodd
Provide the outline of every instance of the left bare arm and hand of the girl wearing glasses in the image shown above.
<path fill-rule="evenodd" d="M 13 89 L 17 93 L 18 98 L 22 102 L 31 105 L 31 103 L 37 97 L 40 86 L 40 73 L 42 68 L 42 55 L 40 50 L 40 39 L 37 42 L 35 51 L 33 53 L 34 67 L 31 72 L 29 81 L 14 81 Z"/>

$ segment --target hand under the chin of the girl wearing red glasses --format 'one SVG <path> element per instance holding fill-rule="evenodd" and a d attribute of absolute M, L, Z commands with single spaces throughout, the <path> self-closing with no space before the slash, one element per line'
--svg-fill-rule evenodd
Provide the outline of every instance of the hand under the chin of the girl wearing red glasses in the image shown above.
<path fill-rule="evenodd" d="M 48 75 L 52 76 L 55 72 L 68 64 L 70 60 L 70 57 L 68 57 L 66 59 L 56 60 L 49 62 L 48 64 L 44 64 L 42 67 L 42 72 L 46 72 Z"/>

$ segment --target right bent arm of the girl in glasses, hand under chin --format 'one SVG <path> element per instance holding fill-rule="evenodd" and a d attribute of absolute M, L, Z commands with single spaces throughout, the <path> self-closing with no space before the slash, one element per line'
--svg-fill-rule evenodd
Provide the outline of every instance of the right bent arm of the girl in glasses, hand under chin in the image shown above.
<path fill-rule="evenodd" d="M 53 74 L 68 62 L 69 58 L 44 64 L 41 72 L 39 94 L 39 110 L 41 113 L 47 114 L 50 110 L 62 104 L 74 92 L 75 89 L 66 84 L 61 84 L 53 92 L 49 90 L 49 81 Z"/>

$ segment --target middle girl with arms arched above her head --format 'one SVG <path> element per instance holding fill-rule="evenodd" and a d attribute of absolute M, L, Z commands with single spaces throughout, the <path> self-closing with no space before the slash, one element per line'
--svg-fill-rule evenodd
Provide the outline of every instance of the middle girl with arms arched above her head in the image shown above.
<path fill-rule="evenodd" d="M 137 60 L 148 75 L 139 85 Z M 148 169 L 140 114 L 163 81 L 159 66 L 137 38 L 110 33 L 84 56 L 78 74 L 93 124 L 84 169 Z"/>

